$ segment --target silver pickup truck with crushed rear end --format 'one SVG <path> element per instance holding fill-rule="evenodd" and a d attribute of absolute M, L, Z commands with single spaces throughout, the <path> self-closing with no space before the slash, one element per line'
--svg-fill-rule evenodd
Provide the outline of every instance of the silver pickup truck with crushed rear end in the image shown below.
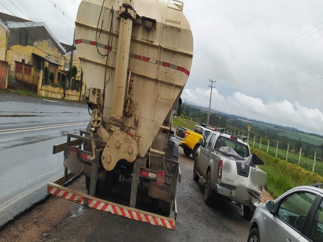
<path fill-rule="evenodd" d="M 243 205 L 246 219 L 251 219 L 260 204 L 266 173 L 257 165 L 264 164 L 250 155 L 246 142 L 237 137 L 211 132 L 201 142 L 194 162 L 193 179 L 204 183 L 204 202 L 211 205 L 216 195 Z"/>

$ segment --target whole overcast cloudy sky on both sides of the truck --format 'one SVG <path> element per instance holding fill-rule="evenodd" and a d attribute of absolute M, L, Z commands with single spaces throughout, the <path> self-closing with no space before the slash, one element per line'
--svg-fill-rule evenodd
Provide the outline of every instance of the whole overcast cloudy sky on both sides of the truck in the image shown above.
<path fill-rule="evenodd" d="M 45 22 L 71 44 L 79 3 L 2 0 L 0 11 Z M 208 107 L 212 79 L 212 109 L 323 135 L 322 9 L 321 0 L 184 0 L 194 57 L 183 101 Z"/>

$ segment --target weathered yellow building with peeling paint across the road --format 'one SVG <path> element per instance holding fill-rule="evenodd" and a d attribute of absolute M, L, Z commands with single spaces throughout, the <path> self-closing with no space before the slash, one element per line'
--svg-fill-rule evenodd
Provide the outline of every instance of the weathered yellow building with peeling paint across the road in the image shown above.
<path fill-rule="evenodd" d="M 60 43 L 45 23 L 0 13 L 0 89 L 6 89 L 9 84 L 10 88 L 30 90 L 42 96 L 79 100 L 81 94 L 77 92 L 84 90 L 84 81 L 81 81 L 76 51 L 73 66 L 77 74 L 70 82 L 66 78 L 71 56 L 69 47 Z M 12 78 L 15 84 L 10 82 Z"/>

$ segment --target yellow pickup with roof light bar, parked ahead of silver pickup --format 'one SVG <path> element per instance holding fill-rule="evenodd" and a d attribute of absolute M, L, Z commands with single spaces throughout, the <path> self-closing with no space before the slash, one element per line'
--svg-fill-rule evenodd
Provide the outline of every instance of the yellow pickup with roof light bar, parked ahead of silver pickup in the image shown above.
<path fill-rule="evenodd" d="M 200 143 L 203 143 L 206 136 L 214 130 L 210 126 L 206 126 L 204 124 L 197 125 L 192 130 L 186 130 L 184 135 L 184 140 L 180 141 L 180 146 L 183 148 L 184 154 L 190 156 L 192 154 L 193 160 L 195 160 L 196 151 L 200 146 Z M 200 142 L 199 140 L 202 140 Z"/>

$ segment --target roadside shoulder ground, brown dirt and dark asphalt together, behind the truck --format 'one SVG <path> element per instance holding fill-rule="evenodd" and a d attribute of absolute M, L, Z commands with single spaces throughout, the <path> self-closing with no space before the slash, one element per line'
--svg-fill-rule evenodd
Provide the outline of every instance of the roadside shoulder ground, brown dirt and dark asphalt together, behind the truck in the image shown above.
<path fill-rule="evenodd" d="M 174 231 L 50 197 L 0 231 L 0 241 L 247 241 L 250 222 L 241 210 L 225 199 L 205 205 L 202 183 L 192 177 L 193 160 L 181 148 L 179 161 Z M 84 186 L 81 176 L 69 187 Z"/>

